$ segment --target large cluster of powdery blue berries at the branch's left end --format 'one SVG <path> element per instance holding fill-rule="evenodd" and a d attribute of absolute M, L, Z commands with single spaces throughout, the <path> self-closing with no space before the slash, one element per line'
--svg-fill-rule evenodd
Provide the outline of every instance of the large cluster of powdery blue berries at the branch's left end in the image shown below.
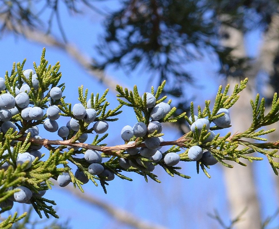
<path fill-rule="evenodd" d="M 31 82 L 32 82 L 32 90 L 39 89 L 39 81 L 37 79 L 37 74 L 32 69 L 27 69 L 23 71 L 23 75 L 25 78 L 29 81 L 29 78 L 31 76 Z M 22 79 L 23 80 L 23 79 Z M 23 120 L 29 121 L 29 120 L 44 120 L 43 127 L 45 130 L 49 132 L 56 132 L 58 131 L 58 136 L 65 139 L 69 136 L 70 130 L 78 131 L 80 129 L 79 120 L 83 120 L 86 123 L 92 123 L 96 119 L 97 112 L 95 109 L 91 107 L 91 99 L 89 99 L 87 103 L 87 108 L 84 107 L 81 103 L 74 104 L 72 108 L 72 113 L 74 118 L 71 118 L 71 120 L 67 123 L 66 126 L 62 126 L 59 128 L 57 120 L 60 117 L 61 110 L 58 107 L 58 105 L 49 105 L 49 107 L 46 109 L 46 114 L 44 114 L 43 109 L 38 106 L 34 106 L 33 101 L 31 101 L 29 93 L 31 91 L 30 88 L 30 82 L 29 84 L 26 83 L 23 80 L 23 85 L 20 88 L 13 88 L 11 89 L 15 90 L 15 97 L 9 93 L 9 91 L 6 89 L 5 79 L 0 77 L 0 132 L 3 132 L 4 134 L 10 129 L 13 129 L 13 132 L 17 130 L 17 126 L 15 125 L 16 120 L 13 119 L 14 116 L 19 115 Z M 53 102 L 59 101 L 62 98 L 62 90 L 59 87 L 52 87 L 49 91 L 50 98 Z M 42 95 L 43 97 L 43 95 Z M 94 98 L 95 99 L 95 98 Z M 95 122 L 93 125 L 93 130 L 97 134 L 104 133 L 108 130 L 108 123 L 106 121 L 98 121 Z M 19 132 L 21 130 L 19 129 Z M 39 136 L 39 129 L 37 126 L 33 126 L 32 128 L 28 128 L 24 133 L 23 136 L 26 136 L 28 133 L 30 133 L 30 137 L 42 139 L 41 136 Z M 85 142 L 87 140 L 87 134 L 82 134 L 77 142 Z M 11 143 L 13 145 L 13 143 Z M 23 167 L 23 170 L 27 170 L 31 167 L 32 162 L 35 160 L 35 158 L 38 158 L 37 160 L 41 159 L 41 152 L 39 151 L 41 149 L 41 145 L 37 144 L 31 144 L 27 152 L 19 153 L 16 160 L 16 165 L 22 165 L 25 163 L 25 166 Z M 67 147 L 69 150 L 72 148 L 70 146 Z M 74 150 L 78 150 L 78 148 L 75 148 Z M 13 153 L 13 146 L 9 149 L 11 153 Z M 0 169 L 7 170 L 9 167 L 9 159 L 8 156 L 8 150 L 5 150 L 2 154 L 2 158 L 0 162 L 5 160 L 4 163 L 1 163 Z M 98 152 L 99 153 L 99 152 Z M 90 152 L 86 152 L 85 158 L 87 158 L 88 154 Z M 102 162 L 102 158 L 100 156 L 100 153 L 98 154 L 100 161 L 98 163 Z M 90 162 L 90 158 L 92 156 L 88 156 L 88 160 Z M 95 162 L 95 161 L 94 161 Z M 94 163 L 93 161 L 91 163 Z M 102 165 L 98 164 L 102 167 Z M 102 167 L 103 168 L 103 167 Z M 114 178 L 114 174 L 111 174 L 109 170 L 102 169 L 101 172 L 94 172 L 94 165 L 89 166 L 88 170 L 91 174 L 100 174 L 104 177 L 104 180 L 112 180 Z M 99 169 L 100 170 L 100 169 Z M 98 170 L 98 171 L 99 171 Z M 102 173 L 102 174 L 101 174 Z M 80 170 L 77 170 L 75 173 L 75 176 L 78 180 L 80 180 L 83 183 L 88 182 L 87 176 Z M 112 178 L 113 177 L 113 178 Z M 70 175 L 68 173 L 63 173 L 62 175 L 58 176 L 58 183 L 60 186 L 64 187 L 67 184 L 69 184 L 71 181 Z M 20 202 L 20 203 L 30 203 L 30 199 L 34 193 L 31 192 L 31 190 L 24 186 L 15 187 L 17 189 L 20 189 L 19 192 L 15 192 L 15 194 L 7 201 L 1 202 L 0 207 L 4 208 L 7 206 L 13 206 L 13 201 Z M 36 193 L 36 195 L 43 195 L 45 191 L 39 191 Z"/>

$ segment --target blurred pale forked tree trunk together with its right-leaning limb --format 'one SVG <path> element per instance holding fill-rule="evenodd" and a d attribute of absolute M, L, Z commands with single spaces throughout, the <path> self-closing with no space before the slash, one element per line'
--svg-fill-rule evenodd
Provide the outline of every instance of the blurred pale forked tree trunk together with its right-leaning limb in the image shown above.
<path fill-rule="evenodd" d="M 246 53 L 243 45 L 243 34 L 231 27 L 224 27 L 224 30 L 229 34 L 229 36 L 228 39 L 223 39 L 223 45 L 235 48 L 232 53 L 235 57 L 245 57 Z M 276 56 L 278 56 L 278 53 L 279 14 L 277 13 L 273 15 L 271 23 L 264 34 L 258 58 L 255 63 L 250 66 L 251 68 L 245 73 L 245 76 L 249 77 L 248 88 L 240 93 L 241 98 L 245 99 L 240 99 L 231 108 L 232 134 L 236 131 L 246 130 L 249 127 L 252 120 L 252 110 L 249 100 L 254 99 L 255 94 L 258 92 L 256 91 L 256 76 L 260 71 L 264 71 L 270 76 L 276 74 L 274 72 L 274 60 Z M 228 83 L 234 85 L 236 80 L 229 77 Z M 272 98 L 274 93 L 272 85 L 267 84 L 264 88 L 263 86 L 264 84 L 261 82 L 260 87 L 262 88 L 260 88 L 260 91 L 263 92 L 263 96 Z M 271 128 L 278 128 L 278 124 L 274 125 L 275 126 Z M 278 132 L 270 135 L 270 141 L 278 141 L 278 139 Z M 225 168 L 224 172 L 227 196 L 231 207 L 232 217 L 236 217 L 244 209 L 246 209 L 246 212 L 242 217 L 243 220 L 236 224 L 236 228 L 261 228 L 260 205 L 254 184 L 252 164 L 248 162 L 247 167 L 235 165 L 233 170 Z M 279 193 L 279 180 L 276 179 L 276 182 L 277 193 Z"/>

